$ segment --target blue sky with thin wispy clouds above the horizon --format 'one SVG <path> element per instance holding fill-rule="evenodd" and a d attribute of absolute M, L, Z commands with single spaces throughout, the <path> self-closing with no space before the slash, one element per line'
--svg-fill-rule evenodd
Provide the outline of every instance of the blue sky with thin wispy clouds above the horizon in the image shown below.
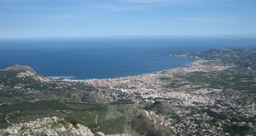
<path fill-rule="evenodd" d="M 256 35 L 256 0 L 0 0 L 0 38 Z"/>

